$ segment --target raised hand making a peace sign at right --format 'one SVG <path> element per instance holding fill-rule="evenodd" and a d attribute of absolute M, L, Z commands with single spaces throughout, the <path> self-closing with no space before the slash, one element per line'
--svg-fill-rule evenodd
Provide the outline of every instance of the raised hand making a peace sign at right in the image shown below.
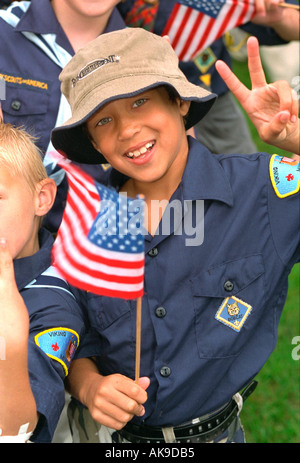
<path fill-rule="evenodd" d="M 267 84 L 255 37 L 247 42 L 252 90 L 246 88 L 223 61 L 216 69 L 255 125 L 260 138 L 291 153 L 300 153 L 298 99 L 288 82 Z"/>

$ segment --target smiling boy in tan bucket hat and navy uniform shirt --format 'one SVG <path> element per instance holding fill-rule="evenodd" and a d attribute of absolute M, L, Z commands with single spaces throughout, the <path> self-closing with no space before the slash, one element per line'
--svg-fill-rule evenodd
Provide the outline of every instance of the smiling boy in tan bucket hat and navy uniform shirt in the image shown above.
<path fill-rule="evenodd" d="M 263 127 L 271 138 L 274 115 L 277 121 L 285 112 L 276 141 L 296 148 L 291 92 L 282 107 L 284 88 L 277 83 L 272 90 L 262 80 L 257 57 L 258 49 L 250 65 L 253 91 L 240 95 L 245 109 L 259 130 L 263 109 L 270 109 Z M 187 82 L 167 41 L 145 31 L 96 39 L 61 80 L 72 118 L 53 131 L 54 146 L 78 162 L 110 162 L 107 184 L 143 194 L 151 225 L 145 236 L 144 377 L 140 385 L 131 379 L 135 305 L 89 293 L 94 345 L 87 338 L 72 365 L 71 393 L 98 423 L 119 430 L 113 440 L 242 442 L 243 398 L 276 345 L 287 277 L 299 260 L 298 162 L 267 153 L 212 156 L 187 138 L 214 96 Z M 153 222 L 153 200 L 163 199 L 169 206 L 164 202 L 161 220 Z M 175 200 L 180 213 L 163 234 L 159 225 Z M 199 201 L 204 217 L 197 216 Z M 198 226 L 204 220 L 197 245 L 186 228 L 191 216 Z M 91 356 L 96 364 L 84 358 Z"/>

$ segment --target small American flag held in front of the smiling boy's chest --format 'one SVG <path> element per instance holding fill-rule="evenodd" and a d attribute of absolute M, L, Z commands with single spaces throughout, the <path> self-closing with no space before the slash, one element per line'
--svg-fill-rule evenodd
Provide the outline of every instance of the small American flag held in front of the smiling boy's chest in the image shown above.
<path fill-rule="evenodd" d="M 57 156 L 55 156 L 57 158 Z M 98 184 L 70 161 L 69 190 L 52 250 L 71 285 L 95 294 L 136 299 L 144 287 L 144 201 Z"/>

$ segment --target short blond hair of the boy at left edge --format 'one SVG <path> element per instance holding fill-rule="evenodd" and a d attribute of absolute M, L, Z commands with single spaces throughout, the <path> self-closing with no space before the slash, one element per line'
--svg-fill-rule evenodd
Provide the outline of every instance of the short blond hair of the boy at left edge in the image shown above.
<path fill-rule="evenodd" d="M 48 177 L 35 139 L 23 128 L 0 122 L 0 167 L 23 177 L 35 191 L 37 183 Z"/>

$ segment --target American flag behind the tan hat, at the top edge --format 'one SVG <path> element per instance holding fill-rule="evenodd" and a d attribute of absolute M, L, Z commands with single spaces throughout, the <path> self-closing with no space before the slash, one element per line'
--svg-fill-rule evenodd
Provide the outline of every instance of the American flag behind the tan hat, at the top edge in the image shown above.
<path fill-rule="evenodd" d="M 180 0 L 162 35 L 169 36 L 180 61 L 189 61 L 254 14 L 255 0 Z"/>

